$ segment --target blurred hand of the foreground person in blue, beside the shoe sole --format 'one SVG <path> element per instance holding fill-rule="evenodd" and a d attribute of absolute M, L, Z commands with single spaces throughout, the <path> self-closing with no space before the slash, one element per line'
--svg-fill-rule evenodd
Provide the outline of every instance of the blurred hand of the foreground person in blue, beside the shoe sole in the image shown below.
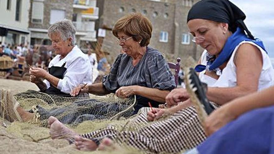
<path fill-rule="evenodd" d="M 236 116 L 229 110 L 229 105 L 220 107 L 205 119 L 205 134 L 210 136 L 235 118 Z"/>

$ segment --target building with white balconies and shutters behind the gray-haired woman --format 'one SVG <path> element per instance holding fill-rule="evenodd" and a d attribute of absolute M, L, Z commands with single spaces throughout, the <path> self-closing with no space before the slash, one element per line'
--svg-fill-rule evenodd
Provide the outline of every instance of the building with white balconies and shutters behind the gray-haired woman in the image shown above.
<path fill-rule="evenodd" d="M 50 45 L 47 29 L 63 19 L 73 21 L 76 41 L 96 41 L 95 21 L 98 19 L 96 0 L 31 0 L 29 30 L 31 44 Z M 41 42 L 43 41 L 43 42 Z"/>

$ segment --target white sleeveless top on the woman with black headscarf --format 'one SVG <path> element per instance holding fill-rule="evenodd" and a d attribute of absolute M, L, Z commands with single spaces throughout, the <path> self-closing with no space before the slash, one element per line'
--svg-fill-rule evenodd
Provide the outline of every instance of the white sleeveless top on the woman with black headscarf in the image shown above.
<path fill-rule="evenodd" d="M 237 86 L 237 76 L 236 76 L 236 66 L 234 64 L 234 56 L 239 48 L 239 46 L 243 43 L 249 43 L 256 46 L 262 54 L 262 72 L 259 77 L 258 91 L 268 88 L 274 85 L 274 69 L 272 67 L 272 63 L 267 53 L 257 44 L 251 41 L 242 41 L 238 46 L 234 49 L 226 67 L 222 71 L 222 75 L 220 75 L 219 79 L 216 80 L 212 77 L 205 75 L 205 70 L 200 72 L 199 77 L 202 82 L 208 84 L 209 87 L 234 87 Z M 206 50 L 203 52 L 201 56 L 201 64 L 206 65 Z"/>

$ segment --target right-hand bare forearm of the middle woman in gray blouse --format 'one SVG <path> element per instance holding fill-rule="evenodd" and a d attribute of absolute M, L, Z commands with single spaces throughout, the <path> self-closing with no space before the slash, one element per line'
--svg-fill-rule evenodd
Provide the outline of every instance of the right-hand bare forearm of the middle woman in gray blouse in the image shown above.
<path fill-rule="evenodd" d="M 168 90 L 159 90 L 157 88 L 148 88 L 144 86 L 137 86 L 135 89 L 136 95 L 140 95 L 160 103 L 165 103 L 166 96 L 169 92 L 170 91 Z"/>

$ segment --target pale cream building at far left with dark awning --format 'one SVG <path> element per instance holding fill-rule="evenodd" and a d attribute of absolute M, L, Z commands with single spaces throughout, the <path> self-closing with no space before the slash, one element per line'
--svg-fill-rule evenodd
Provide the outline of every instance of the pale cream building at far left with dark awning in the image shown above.
<path fill-rule="evenodd" d="M 26 44 L 30 41 L 29 7 L 29 0 L 0 1 L 0 42 L 2 44 Z"/>

